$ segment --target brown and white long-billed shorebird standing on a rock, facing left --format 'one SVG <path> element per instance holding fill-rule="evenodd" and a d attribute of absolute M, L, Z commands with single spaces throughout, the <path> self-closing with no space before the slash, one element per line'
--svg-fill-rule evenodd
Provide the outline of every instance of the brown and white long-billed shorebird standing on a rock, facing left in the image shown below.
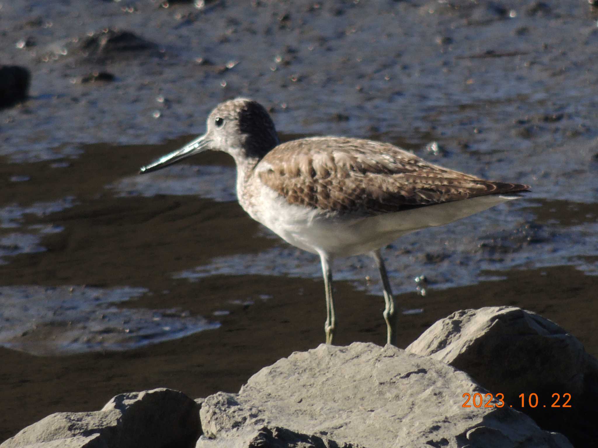
<path fill-rule="evenodd" d="M 237 197 L 249 216 L 283 240 L 318 254 L 326 294 L 326 342 L 335 330 L 334 257 L 368 253 L 384 286 L 387 342 L 396 345 L 392 291 L 380 248 L 409 232 L 440 226 L 517 198 L 529 186 L 449 170 L 389 143 L 312 137 L 280 144 L 269 113 L 237 98 L 208 116 L 203 136 L 141 168 L 158 170 L 203 151 L 237 165 Z"/>

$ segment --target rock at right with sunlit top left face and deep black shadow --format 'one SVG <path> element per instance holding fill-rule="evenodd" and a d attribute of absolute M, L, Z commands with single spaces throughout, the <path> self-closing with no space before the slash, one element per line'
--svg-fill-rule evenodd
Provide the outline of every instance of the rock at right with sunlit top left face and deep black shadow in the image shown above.
<path fill-rule="evenodd" d="M 575 446 L 598 440 L 598 426 L 588 418 L 596 412 L 598 361 L 576 337 L 538 314 L 507 306 L 457 311 L 437 321 L 407 351 L 467 372 Z M 536 407 L 530 406 L 532 393 L 538 395 Z M 570 408 L 562 407 L 567 393 Z M 523 407 L 520 394 L 525 394 Z M 535 397 L 531 400 L 535 404 Z"/>

